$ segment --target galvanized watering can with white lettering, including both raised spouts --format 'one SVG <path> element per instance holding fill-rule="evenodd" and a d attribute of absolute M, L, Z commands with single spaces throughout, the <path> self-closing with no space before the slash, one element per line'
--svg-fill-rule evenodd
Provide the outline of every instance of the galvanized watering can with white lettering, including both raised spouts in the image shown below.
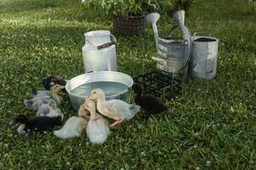
<path fill-rule="evenodd" d="M 159 71 L 177 77 L 182 82 L 187 80 L 189 70 L 189 60 L 192 52 L 192 41 L 189 29 L 184 25 L 184 11 L 179 10 L 172 15 L 172 18 L 177 22 L 169 31 L 167 37 L 159 37 L 156 26 L 157 20 L 160 19 L 160 14 L 150 13 L 145 19 L 152 24 L 154 31 L 154 40 L 157 49 L 156 68 Z M 180 29 L 183 37 L 180 39 L 172 37 L 173 31 Z"/>

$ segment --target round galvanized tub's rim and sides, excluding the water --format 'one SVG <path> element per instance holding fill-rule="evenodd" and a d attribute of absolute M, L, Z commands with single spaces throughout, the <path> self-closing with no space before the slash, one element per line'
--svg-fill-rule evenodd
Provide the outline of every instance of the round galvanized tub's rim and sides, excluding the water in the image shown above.
<path fill-rule="evenodd" d="M 124 91 L 119 92 L 118 94 L 106 96 L 106 99 L 122 99 L 128 103 L 130 102 L 130 89 L 133 85 L 133 79 L 130 76 L 116 71 L 91 72 L 74 77 L 73 79 L 67 81 L 66 90 L 74 111 L 79 110 L 79 106 L 84 103 L 84 99 L 87 97 L 87 95 L 74 94 L 73 89 L 91 82 L 119 82 L 124 84 L 127 87 Z"/>

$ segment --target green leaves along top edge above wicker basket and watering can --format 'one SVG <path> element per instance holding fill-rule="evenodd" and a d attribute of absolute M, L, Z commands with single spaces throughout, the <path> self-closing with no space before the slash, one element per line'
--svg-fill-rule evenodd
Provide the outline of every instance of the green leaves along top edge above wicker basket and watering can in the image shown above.
<path fill-rule="evenodd" d="M 172 14 L 177 10 L 188 10 L 195 0 L 84 0 L 83 3 L 108 16 L 131 16 L 158 11 Z"/>

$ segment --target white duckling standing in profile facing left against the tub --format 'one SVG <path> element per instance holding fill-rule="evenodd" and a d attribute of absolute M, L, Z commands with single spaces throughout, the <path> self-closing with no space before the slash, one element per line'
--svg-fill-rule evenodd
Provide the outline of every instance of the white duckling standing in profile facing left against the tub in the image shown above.
<path fill-rule="evenodd" d="M 119 99 L 111 99 L 106 101 L 105 94 L 100 88 L 91 91 L 88 99 L 96 99 L 97 110 L 104 116 L 108 116 L 115 120 L 109 127 L 114 127 L 117 124 L 130 120 L 140 111 L 139 105 L 130 105 Z"/>

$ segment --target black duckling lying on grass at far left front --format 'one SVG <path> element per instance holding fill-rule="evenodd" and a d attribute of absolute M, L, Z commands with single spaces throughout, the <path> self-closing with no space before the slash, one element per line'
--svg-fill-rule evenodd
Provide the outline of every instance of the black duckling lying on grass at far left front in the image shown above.
<path fill-rule="evenodd" d="M 26 115 L 19 115 L 13 123 L 21 123 L 23 129 L 19 129 L 22 133 L 45 132 L 51 131 L 55 126 L 61 125 L 62 116 L 36 116 L 31 120 Z"/>

